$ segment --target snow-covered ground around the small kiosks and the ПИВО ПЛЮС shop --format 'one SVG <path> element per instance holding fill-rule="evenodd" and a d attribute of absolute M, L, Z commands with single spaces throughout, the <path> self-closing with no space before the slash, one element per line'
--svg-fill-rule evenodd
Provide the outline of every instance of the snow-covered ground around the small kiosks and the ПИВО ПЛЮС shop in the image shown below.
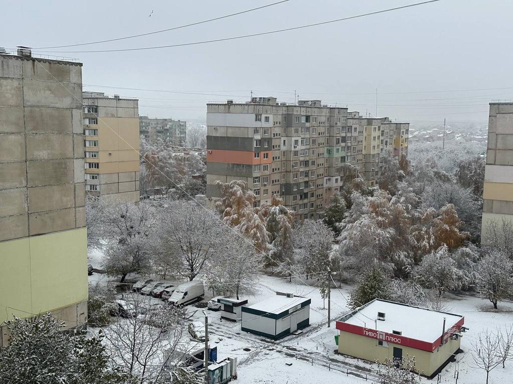
<path fill-rule="evenodd" d="M 100 265 L 101 254 L 92 254 L 90 263 Z M 93 264 L 94 265 L 94 264 Z M 133 278 L 134 276 L 132 276 Z M 91 282 L 107 283 L 115 279 L 104 274 L 89 276 Z M 303 278 L 302 278 L 303 279 Z M 211 345 L 218 347 L 218 359 L 232 356 L 238 358 L 237 382 L 243 383 L 319 383 L 338 382 L 343 384 L 372 382 L 375 365 L 334 353 L 337 349 L 334 335 L 337 334 L 335 322 L 327 327 L 327 309 L 317 288 L 312 287 L 314 280 L 305 282 L 276 276 L 263 275 L 260 290 L 254 296 L 247 297 L 252 305 L 275 294 L 275 291 L 291 292 L 311 298 L 310 326 L 299 335 L 289 335 L 273 342 L 272 340 L 242 332 L 240 323 L 232 323 L 220 318 L 220 312 L 207 311 L 209 316 L 209 334 Z M 310 286 L 311 285 L 311 286 Z M 333 288 L 331 291 L 331 318 L 337 319 L 346 313 L 346 298 L 350 286 Z M 205 292 L 205 300 L 211 292 Z M 459 383 L 481 384 L 485 382 L 485 373 L 472 368 L 471 343 L 475 342 L 479 332 L 486 328 L 510 325 L 513 322 L 513 303 L 499 303 L 499 311 L 494 311 L 491 303 L 483 298 L 466 294 L 445 294 L 448 312 L 463 315 L 465 326 L 470 328 L 461 341 L 463 353 L 457 355 L 457 361 L 449 363 L 440 374 L 440 382 L 455 383 L 455 369 L 459 371 Z M 155 300 L 155 302 L 159 302 Z M 326 303 L 327 304 L 327 303 Z M 203 311 L 195 306 L 188 307 L 191 319 L 203 321 Z M 246 349 L 246 350 L 245 350 Z M 312 360 L 313 359 L 313 360 Z M 509 363 L 509 364 L 508 364 Z M 490 384 L 513 382 L 513 362 L 507 362 L 490 373 Z M 291 365 L 289 365 L 291 364 Z M 313 365 L 312 365 L 313 364 Z M 365 380 L 367 375 L 367 381 Z M 423 382 L 437 382 L 437 379 L 423 379 Z"/>

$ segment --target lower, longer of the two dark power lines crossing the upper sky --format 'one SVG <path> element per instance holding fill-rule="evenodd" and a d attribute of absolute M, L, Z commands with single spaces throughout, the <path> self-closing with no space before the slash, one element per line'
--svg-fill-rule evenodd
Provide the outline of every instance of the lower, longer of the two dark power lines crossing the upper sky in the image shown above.
<path fill-rule="evenodd" d="M 143 51 L 143 50 L 150 50 L 150 49 L 162 49 L 162 48 L 174 48 L 174 47 L 193 46 L 193 45 L 199 45 L 199 44 L 208 44 L 208 43 L 211 43 L 211 42 L 236 40 L 236 39 L 242 39 L 242 38 L 248 38 L 248 37 L 270 35 L 270 34 L 273 34 L 273 33 L 281 33 L 281 32 L 286 32 L 286 31 L 294 31 L 294 30 L 303 29 L 303 28 L 317 27 L 317 26 L 320 26 L 320 25 L 331 24 L 331 23 L 338 23 L 338 22 L 342 22 L 342 21 L 350 20 L 350 19 L 354 19 L 354 18 L 371 16 L 371 15 L 376 15 L 376 14 L 385 13 L 385 12 L 391 12 L 391 11 L 397 11 L 397 10 L 404 9 L 404 8 L 417 7 L 417 6 L 420 6 L 420 5 L 425 5 L 425 4 L 429 4 L 429 3 L 436 3 L 436 2 L 439 2 L 439 1 L 441 1 L 441 0 L 429 0 L 429 1 L 421 2 L 421 3 L 408 4 L 408 5 L 404 5 L 404 6 L 401 6 L 401 7 L 388 8 L 388 9 L 383 9 L 383 10 L 380 10 L 380 11 L 363 13 L 363 14 L 356 15 L 356 16 L 342 17 L 342 18 L 338 18 L 338 19 L 335 19 L 335 20 L 329 20 L 327 22 L 320 22 L 320 23 L 307 24 L 307 25 L 298 26 L 298 27 L 277 29 L 277 30 L 268 31 L 268 32 L 252 33 L 252 34 L 249 34 L 249 35 L 224 37 L 224 38 L 212 39 L 212 40 L 185 42 L 185 43 L 182 43 L 182 44 L 172 44 L 172 45 L 167 45 L 167 46 L 141 47 L 141 48 L 124 48 L 124 49 L 106 49 L 106 50 L 95 50 L 95 51 L 44 51 L 44 52 L 45 53 L 126 52 L 126 51 Z"/>

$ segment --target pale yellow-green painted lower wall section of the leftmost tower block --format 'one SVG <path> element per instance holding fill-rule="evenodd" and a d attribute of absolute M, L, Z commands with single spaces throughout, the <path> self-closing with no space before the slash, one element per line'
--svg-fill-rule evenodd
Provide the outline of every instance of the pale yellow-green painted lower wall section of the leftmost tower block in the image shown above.
<path fill-rule="evenodd" d="M 0 243 L 0 323 L 87 301 L 87 290 L 86 228 Z"/>

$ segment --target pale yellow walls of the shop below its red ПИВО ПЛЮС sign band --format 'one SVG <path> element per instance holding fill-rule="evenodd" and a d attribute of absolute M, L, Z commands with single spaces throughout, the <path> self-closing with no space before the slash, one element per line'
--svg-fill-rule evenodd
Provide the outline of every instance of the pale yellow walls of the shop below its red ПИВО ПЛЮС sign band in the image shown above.
<path fill-rule="evenodd" d="M 393 359 L 393 347 L 398 347 L 403 350 L 403 358 L 407 355 L 415 356 L 417 372 L 425 376 L 430 376 L 452 353 L 460 348 L 460 339 L 449 340 L 442 348 L 434 352 L 427 352 L 392 343 L 388 343 L 388 348 L 381 347 L 378 345 L 377 339 L 340 331 L 339 353 L 345 355 L 374 362 L 383 362 L 386 358 Z"/>

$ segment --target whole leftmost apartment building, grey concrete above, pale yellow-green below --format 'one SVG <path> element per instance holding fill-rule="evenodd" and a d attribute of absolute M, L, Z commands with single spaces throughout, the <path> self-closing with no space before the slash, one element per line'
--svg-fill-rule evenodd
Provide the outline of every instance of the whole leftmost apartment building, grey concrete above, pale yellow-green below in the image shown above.
<path fill-rule="evenodd" d="M 0 54 L 3 324 L 45 312 L 87 321 L 82 63 Z"/>

